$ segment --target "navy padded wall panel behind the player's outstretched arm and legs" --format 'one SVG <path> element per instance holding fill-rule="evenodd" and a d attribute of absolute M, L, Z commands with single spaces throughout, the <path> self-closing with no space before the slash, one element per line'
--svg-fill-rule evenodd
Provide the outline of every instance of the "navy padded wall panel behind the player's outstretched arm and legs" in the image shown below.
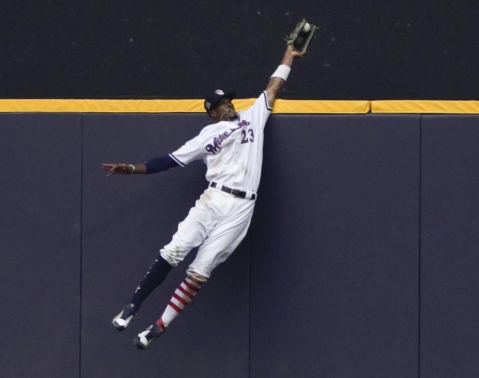
<path fill-rule="evenodd" d="M 208 183 L 201 162 L 110 178 L 101 164 L 165 155 L 208 122 L 198 114 L 84 117 L 82 377 L 248 375 L 249 236 L 147 350 L 138 351 L 132 340 L 161 316 L 196 251 L 144 302 L 127 330 L 110 327 Z"/>

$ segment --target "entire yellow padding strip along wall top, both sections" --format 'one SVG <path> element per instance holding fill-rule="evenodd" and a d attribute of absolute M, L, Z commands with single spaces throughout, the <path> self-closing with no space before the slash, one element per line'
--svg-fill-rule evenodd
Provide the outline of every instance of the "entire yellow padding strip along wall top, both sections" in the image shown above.
<path fill-rule="evenodd" d="M 255 99 L 234 100 L 237 110 L 246 109 Z M 479 114 L 479 101 L 442 100 L 281 100 L 273 113 L 364 114 L 450 113 Z M 1 100 L 0 112 L 79 112 L 79 113 L 204 113 L 203 100 Z"/>

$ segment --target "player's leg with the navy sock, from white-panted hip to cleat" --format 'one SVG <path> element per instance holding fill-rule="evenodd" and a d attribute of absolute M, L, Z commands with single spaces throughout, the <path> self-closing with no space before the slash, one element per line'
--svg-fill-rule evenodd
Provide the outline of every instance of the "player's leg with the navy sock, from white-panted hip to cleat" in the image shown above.
<path fill-rule="evenodd" d="M 178 225 L 178 231 L 173 235 L 172 241 L 160 250 L 161 256 L 145 275 L 131 302 L 113 318 L 111 325 L 114 329 L 122 331 L 128 326 L 142 302 L 164 281 L 172 266 L 177 266 L 192 248 L 200 245 L 217 219 L 224 216 L 222 196 L 216 197 L 213 201 L 212 193 L 207 189 L 196 201 L 195 207 L 191 208 L 185 220 Z"/>

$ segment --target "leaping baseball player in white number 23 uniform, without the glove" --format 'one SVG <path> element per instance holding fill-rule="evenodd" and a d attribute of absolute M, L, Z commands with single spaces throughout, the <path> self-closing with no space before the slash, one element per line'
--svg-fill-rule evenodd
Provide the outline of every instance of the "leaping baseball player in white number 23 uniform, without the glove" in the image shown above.
<path fill-rule="evenodd" d="M 207 165 L 208 188 L 188 216 L 178 225 L 171 242 L 160 250 L 133 297 L 111 322 L 122 331 L 135 317 L 145 298 L 178 266 L 194 247 L 200 246 L 161 317 L 138 334 L 134 343 L 147 348 L 191 302 L 219 264 L 240 244 L 249 227 L 261 175 L 263 130 L 274 99 L 286 81 L 294 58 L 300 56 L 287 45 L 281 64 L 266 89 L 247 110 L 236 112 L 232 100 L 236 92 L 220 89 L 205 99 L 205 110 L 213 120 L 198 136 L 175 152 L 144 164 L 103 164 L 114 174 L 153 174 L 173 167 L 184 167 L 194 160 Z"/>

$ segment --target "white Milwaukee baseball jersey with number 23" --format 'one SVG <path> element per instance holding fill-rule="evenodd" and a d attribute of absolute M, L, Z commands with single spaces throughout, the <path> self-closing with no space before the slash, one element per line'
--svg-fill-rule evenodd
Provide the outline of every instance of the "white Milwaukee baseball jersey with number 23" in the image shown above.
<path fill-rule="evenodd" d="M 264 125 L 271 110 L 263 91 L 251 107 L 238 112 L 238 119 L 206 126 L 170 157 L 181 166 L 202 159 L 208 167 L 208 181 L 256 191 L 263 161 Z"/>

